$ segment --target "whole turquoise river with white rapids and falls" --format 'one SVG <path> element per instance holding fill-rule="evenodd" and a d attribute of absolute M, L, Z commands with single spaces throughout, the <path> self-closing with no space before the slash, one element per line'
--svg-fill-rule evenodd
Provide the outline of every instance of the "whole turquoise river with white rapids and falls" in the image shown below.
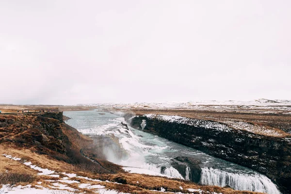
<path fill-rule="evenodd" d="M 103 147 L 103 154 L 108 161 L 127 166 L 125 167 L 127 171 L 190 180 L 191 169 L 188 166 L 183 177 L 171 162 L 178 156 L 192 157 L 202 162 L 201 184 L 220 187 L 228 185 L 235 190 L 280 194 L 275 184 L 266 176 L 142 130 L 126 128 L 121 125 L 121 122 L 125 122 L 121 116 L 99 113 L 64 112 L 66 116 L 72 118 L 66 123 L 84 134 L 117 137 L 119 146 L 125 150 L 125 154 L 117 157 L 118 150 L 106 146 Z"/>

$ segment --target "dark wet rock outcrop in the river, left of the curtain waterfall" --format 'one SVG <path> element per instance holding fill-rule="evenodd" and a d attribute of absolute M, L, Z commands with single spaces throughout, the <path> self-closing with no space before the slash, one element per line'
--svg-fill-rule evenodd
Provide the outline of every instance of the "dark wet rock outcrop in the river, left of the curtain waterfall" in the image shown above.
<path fill-rule="evenodd" d="M 190 173 L 189 173 L 189 179 L 192 182 L 198 183 L 201 177 L 201 168 L 198 165 L 201 163 L 201 161 L 196 160 L 194 158 L 188 158 L 188 157 L 176 157 L 173 159 L 173 162 L 171 163 L 172 166 L 178 170 L 178 172 L 186 178 L 186 168 L 187 166 L 190 168 Z"/>

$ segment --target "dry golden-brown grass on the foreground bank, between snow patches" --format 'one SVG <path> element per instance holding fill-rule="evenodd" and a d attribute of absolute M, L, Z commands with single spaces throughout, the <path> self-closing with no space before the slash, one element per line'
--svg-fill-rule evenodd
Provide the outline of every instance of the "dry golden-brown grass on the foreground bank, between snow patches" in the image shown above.
<path fill-rule="evenodd" d="M 48 168 L 50 170 L 56 170 L 57 172 L 64 172 L 67 173 L 76 173 L 79 176 L 89 177 L 89 178 L 95 178 L 95 179 L 101 179 L 101 180 L 109 180 L 112 182 L 120 182 L 123 184 L 113 184 L 109 182 L 94 182 L 94 181 L 88 181 L 83 178 L 70 178 L 71 180 L 78 180 L 81 183 L 91 183 L 94 184 L 101 184 L 106 186 L 107 189 L 115 189 L 120 192 L 124 193 L 133 193 L 133 194 L 153 194 L 153 193 L 159 193 L 154 192 L 150 190 L 161 190 L 161 187 L 166 189 L 168 192 L 182 192 L 182 193 L 190 193 L 187 188 L 192 189 L 201 189 L 204 191 L 209 192 L 216 192 L 216 193 L 223 193 L 223 194 L 254 194 L 253 192 L 242 192 L 242 191 L 234 191 L 230 188 L 220 188 L 216 186 L 202 186 L 198 185 L 192 182 L 187 182 L 179 179 L 169 179 L 169 178 L 162 178 L 162 177 L 154 177 L 154 176 L 148 176 L 148 175 L 139 175 L 139 174 L 129 174 L 129 173 L 123 173 L 123 174 L 107 174 L 107 175 L 96 175 L 92 172 L 88 171 L 80 171 L 75 172 L 72 171 L 74 169 L 74 165 L 68 164 L 65 162 L 56 161 L 52 158 L 49 158 L 47 155 L 38 155 L 37 153 L 31 152 L 30 150 L 17 150 L 14 148 L 6 148 L 3 149 L 2 146 L 0 146 L 0 152 L 4 151 L 6 154 L 11 154 L 12 156 L 17 156 L 19 158 L 26 158 L 28 161 L 31 161 L 33 164 L 37 164 L 42 168 Z M 2 152 L 3 153 L 3 152 Z M 26 157 L 25 157 L 26 156 Z M 28 172 L 30 176 L 36 175 L 36 171 L 32 170 L 31 168 L 27 167 L 24 164 L 21 164 L 20 162 L 13 161 L 11 159 L 7 159 L 4 156 L 0 156 L 1 160 L 1 166 L 11 166 L 11 169 L 14 169 L 15 171 L 21 172 Z M 2 168 L 3 169 L 3 168 Z M 5 168 L 4 168 L 5 169 Z M 80 169 L 79 169 L 80 170 Z M 61 175 L 62 177 L 62 175 Z M 60 177 L 60 178 L 61 178 Z M 49 177 L 49 176 L 37 176 L 37 179 L 34 181 L 41 181 L 42 186 L 48 187 L 51 186 L 50 182 L 47 182 L 46 180 L 58 180 L 59 178 Z M 139 181 L 139 183 L 137 183 Z M 67 184 L 67 183 L 65 183 Z M 34 184 L 32 183 L 32 186 Z M 79 189 L 80 191 L 87 191 L 86 189 L 82 190 L 78 188 L 78 184 L 68 184 L 69 187 Z M 184 190 L 180 190 L 179 186 L 182 186 Z M 92 191 L 91 191 L 92 192 Z"/>

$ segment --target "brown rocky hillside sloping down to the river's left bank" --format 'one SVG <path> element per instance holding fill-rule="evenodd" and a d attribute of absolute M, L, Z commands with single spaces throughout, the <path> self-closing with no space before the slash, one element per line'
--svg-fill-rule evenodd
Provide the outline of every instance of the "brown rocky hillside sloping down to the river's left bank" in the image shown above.
<path fill-rule="evenodd" d="M 0 115 L 0 144 L 29 149 L 90 172 L 121 171 L 118 165 L 99 160 L 94 141 L 65 124 L 63 112 Z"/>

